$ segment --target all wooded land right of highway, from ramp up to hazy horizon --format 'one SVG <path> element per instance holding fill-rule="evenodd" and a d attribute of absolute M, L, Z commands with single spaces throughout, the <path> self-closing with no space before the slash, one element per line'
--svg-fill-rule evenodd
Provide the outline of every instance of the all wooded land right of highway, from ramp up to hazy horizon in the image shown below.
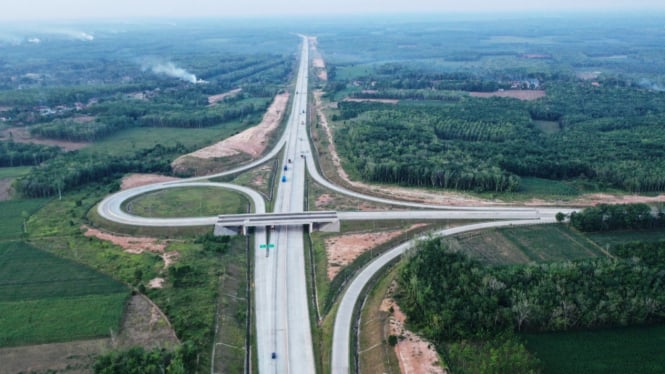
<path fill-rule="evenodd" d="M 322 36 L 350 174 L 490 193 L 519 192 L 530 177 L 665 191 L 657 17 L 534 22 L 406 19 L 400 32 L 377 22 Z M 490 93 L 530 98 L 478 97 Z"/>

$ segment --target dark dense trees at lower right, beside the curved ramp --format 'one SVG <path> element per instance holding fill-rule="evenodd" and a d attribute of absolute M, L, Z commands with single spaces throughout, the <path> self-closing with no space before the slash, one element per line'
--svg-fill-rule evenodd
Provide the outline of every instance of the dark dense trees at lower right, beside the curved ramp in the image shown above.
<path fill-rule="evenodd" d="M 517 333 L 665 321 L 665 242 L 618 245 L 611 254 L 490 267 L 430 238 L 401 268 L 400 307 L 450 362 L 474 360 L 470 351 L 484 346 L 475 359 L 486 372 L 535 372 L 538 361 Z"/>

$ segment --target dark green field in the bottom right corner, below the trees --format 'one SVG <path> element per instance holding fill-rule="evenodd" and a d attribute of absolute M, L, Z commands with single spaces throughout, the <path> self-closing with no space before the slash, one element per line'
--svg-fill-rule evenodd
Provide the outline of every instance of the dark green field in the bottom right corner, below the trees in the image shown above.
<path fill-rule="evenodd" d="M 523 336 L 544 373 L 665 372 L 665 325 Z"/>

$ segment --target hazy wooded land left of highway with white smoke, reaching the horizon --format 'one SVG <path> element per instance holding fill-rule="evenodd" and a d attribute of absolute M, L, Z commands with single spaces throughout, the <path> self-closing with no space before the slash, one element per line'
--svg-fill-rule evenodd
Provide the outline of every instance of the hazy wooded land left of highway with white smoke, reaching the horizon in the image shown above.
<path fill-rule="evenodd" d="M 6 52 L 0 59 L 0 166 L 34 167 L 14 190 L 24 197 L 57 196 L 91 182 L 107 181 L 113 189 L 114 179 L 129 172 L 171 174 L 170 163 L 193 151 L 192 143 L 207 145 L 259 123 L 293 74 L 297 36 L 266 38 L 251 28 L 211 26 L 126 26 L 128 37 L 102 23 L 90 43 L 53 36 L 39 45 L 0 40 Z M 222 44 L 219 32 L 228 36 Z M 178 43 L 164 44 L 169 37 Z M 135 148 L 132 142 L 118 155 L 95 150 L 109 137 L 140 128 L 222 131 L 206 144 Z M 65 152 L 14 141 L 14 132 L 90 145 Z"/>

